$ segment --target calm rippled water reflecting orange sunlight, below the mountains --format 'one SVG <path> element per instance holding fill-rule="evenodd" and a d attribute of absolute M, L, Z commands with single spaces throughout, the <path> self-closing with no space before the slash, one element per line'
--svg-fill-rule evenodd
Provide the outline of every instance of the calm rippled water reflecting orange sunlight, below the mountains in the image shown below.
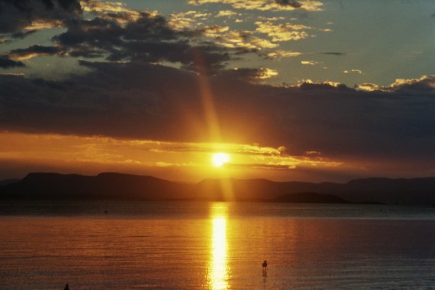
<path fill-rule="evenodd" d="M 3 202 L 0 262 L 0 289 L 435 289 L 435 207 Z"/>

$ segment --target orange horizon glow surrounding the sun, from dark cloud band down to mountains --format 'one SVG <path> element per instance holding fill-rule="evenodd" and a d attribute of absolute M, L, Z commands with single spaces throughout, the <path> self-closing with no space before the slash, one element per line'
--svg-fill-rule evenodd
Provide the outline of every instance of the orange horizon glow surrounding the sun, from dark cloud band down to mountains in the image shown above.
<path fill-rule="evenodd" d="M 218 155 L 223 158 L 218 161 L 222 168 L 211 163 L 215 153 L 224 154 Z M 231 162 L 228 162 L 229 156 Z M 210 177 L 273 180 L 279 174 L 291 173 L 298 166 L 340 166 L 339 162 L 289 156 L 282 147 L 258 144 L 163 142 L 8 131 L 0 131 L 1 161 L 22 166 L 26 173 L 57 171 L 94 175 L 115 171 L 180 181 Z"/>

